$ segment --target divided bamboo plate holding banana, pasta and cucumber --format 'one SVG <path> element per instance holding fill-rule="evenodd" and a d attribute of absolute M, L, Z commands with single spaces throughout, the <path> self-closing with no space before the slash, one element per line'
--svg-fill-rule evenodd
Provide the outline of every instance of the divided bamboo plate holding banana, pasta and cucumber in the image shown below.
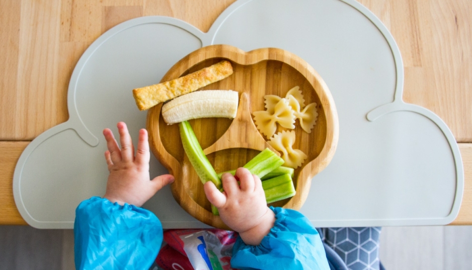
<path fill-rule="evenodd" d="M 300 149 L 308 159 L 295 170 L 297 194 L 272 203 L 290 209 L 300 209 L 310 191 L 311 180 L 331 161 L 338 141 L 338 117 L 331 93 L 316 71 L 302 58 L 274 48 L 243 52 L 228 45 L 201 48 L 178 61 L 164 75 L 169 81 L 221 60 L 231 61 L 234 73 L 228 78 L 202 89 L 228 89 L 239 93 L 235 119 L 202 118 L 190 124 L 217 172 L 244 165 L 260 151 L 270 146 L 268 138 L 259 133 L 252 121 L 252 112 L 264 109 L 264 95 L 285 97 L 294 86 L 300 86 L 305 104 L 317 104 L 318 119 L 311 133 L 306 133 L 296 121 L 294 149 Z M 172 195 L 191 216 L 217 227 L 228 229 L 219 216 L 213 216 L 203 185 L 190 164 L 180 141 L 178 124 L 167 125 L 161 115 L 162 104 L 148 111 L 147 129 L 151 150 L 169 173 L 175 177 Z M 284 130 L 280 126 L 277 132 Z"/>

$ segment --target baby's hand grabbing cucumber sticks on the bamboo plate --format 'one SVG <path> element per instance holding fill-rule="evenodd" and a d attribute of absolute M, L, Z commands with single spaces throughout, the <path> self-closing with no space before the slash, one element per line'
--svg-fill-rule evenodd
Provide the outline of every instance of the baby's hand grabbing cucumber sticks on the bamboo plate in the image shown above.
<path fill-rule="evenodd" d="M 273 227 L 275 214 L 267 207 L 259 177 L 245 168 L 238 168 L 235 176 L 230 173 L 222 175 L 223 193 L 208 181 L 204 185 L 205 194 L 218 208 L 223 222 L 239 232 L 244 243 L 256 246 Z"/>

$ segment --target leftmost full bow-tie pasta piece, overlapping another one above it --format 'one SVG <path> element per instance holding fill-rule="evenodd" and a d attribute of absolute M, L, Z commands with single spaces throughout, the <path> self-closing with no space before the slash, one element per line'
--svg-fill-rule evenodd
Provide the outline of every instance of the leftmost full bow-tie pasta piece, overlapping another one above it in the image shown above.
<path fill-rule="evenodd" d="M 267 110 L 254 111 L 254 123 L 267 138 L 272 137 L 277 130 L 277 123 L 282 127 L 294 129 L 295 115 L 288 100 L 280 99 L 274 106 L 273 112 Z"/>

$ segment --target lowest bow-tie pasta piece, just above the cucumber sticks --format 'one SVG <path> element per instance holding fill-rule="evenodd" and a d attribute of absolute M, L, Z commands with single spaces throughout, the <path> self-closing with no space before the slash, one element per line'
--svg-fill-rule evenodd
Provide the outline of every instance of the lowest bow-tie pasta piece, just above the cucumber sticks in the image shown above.
<path fill-rule="evenodd" d="M 283 166 L 298 168 L 308 158 L 302 150 L 293 149 L 295 144 L 295 131 L 282 131 L 274 135 L 268 141 L 275 150 L 282 152 Z"/>

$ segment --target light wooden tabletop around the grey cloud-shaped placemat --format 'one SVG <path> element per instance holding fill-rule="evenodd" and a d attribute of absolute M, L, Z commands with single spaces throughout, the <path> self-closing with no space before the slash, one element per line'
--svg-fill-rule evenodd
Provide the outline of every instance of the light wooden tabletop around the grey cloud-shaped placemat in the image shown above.
<path fill-rule="evenodd" d="M 45 130 L 65 122 L 67 88 L 85 49 L 125 20 L 162 15 L 208 31 L 235 0 L 0 0 L 0 224 L 26 224 L 12 194 L 15 164 Z M 465 191 L 452 224 L 472 224 L 472 1 L 359 0 L 392 32 L 403 57 L 407 103 L 452 130 Z"/>

